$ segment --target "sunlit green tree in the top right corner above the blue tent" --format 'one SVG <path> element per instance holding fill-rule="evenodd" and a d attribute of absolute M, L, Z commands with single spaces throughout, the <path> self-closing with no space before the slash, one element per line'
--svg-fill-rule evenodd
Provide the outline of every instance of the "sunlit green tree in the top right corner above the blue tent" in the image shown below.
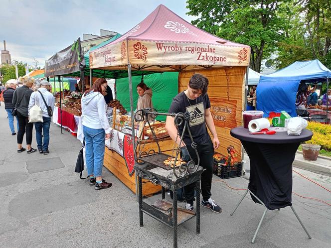
<path fill-rule="evenodd" d="M 330 0 L 299 0 L 288 5 L 285 39 L 278 43 L 278 68 L 310 59 L 331 68 L 330 4 Z"/>

